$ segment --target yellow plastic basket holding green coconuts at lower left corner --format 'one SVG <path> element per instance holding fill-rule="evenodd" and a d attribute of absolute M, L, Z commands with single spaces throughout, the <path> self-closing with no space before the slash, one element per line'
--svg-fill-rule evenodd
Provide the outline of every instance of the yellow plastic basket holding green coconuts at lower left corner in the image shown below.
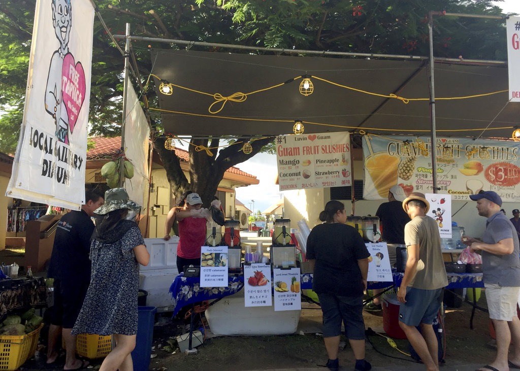
<path fill-rule="evenodd" d="M 14 371 L 34 355 L 42 327 L 25 335 L 0 336 L 0 370 Z"/>

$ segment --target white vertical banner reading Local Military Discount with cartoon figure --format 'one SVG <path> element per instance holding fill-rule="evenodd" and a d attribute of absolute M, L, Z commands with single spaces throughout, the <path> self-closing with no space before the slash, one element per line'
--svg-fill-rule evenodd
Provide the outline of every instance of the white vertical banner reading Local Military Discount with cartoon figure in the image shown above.
<path fill-rule="evenodd" d="M 75 210 L 85 203 L 93 23 L 88 0 L 36 2 L 9 197 Z"/>

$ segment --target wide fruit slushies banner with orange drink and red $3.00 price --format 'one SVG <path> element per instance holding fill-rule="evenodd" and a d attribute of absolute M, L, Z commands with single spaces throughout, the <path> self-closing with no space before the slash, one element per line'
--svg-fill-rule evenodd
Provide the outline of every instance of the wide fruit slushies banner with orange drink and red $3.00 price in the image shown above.
<path fill-rule="evenodd" d="M 430 137 L 363 136 L 363 198 L 387 198 L 399 184 L 408 195 L 433 193 Z M 469 201 L 480 190 L 495 191 L 504 202 L 520 202 L 519 142 L 437 138 L 437 193 Z"/>

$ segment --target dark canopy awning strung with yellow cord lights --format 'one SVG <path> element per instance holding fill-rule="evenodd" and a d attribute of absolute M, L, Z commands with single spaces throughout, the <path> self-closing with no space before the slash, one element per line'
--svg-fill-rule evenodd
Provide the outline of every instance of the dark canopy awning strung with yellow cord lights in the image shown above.
<path fill-rule="evenodd" d="M 431 130 L 430 68 L 425 61 L 155 49 L 152 64 L 152 73 L 161 79 L 210 94 L 178 87 L 174 87 L 171 96 L 158 91 L 159 108 L 175 111 L 162 112 L 165 130 L 175 135 L 291 134 L 294 120 L 308 122 L 304 123 L 305 132 L 363 129 L 380 135 L 428 135 Z M 302 75 L 314 75 L 383 96 L 346 89 L 316 78 L 311 78 L 313 94 L 303 96 L 298 89 L 302 79 L 298 78 L 249 95 L 242 102 L 227 101 L 218 113 L 208 111 L 215 102 L 213 94 L 223 97 L 237 92 L 248 94 Z M 506 67 L 436 63 L 434 77 L 438 136 L 510 138 L 510 127 L 520 126 L 520 103 L 508 103 L 507 91 L 468 99 L 440 99 L 507 90 Z M 155 85 L 159 84 L 156 79 Z M 405 104 L 400 99 L 384 97 L 391 94 L 426 100 Z M 221 106 L 222 103 L 214 104 L 212 111 Z M 497 129 L 502 127 L 509 128 Z M 484 133 L 472 130 L 478 128 L 487 130 Z"/>

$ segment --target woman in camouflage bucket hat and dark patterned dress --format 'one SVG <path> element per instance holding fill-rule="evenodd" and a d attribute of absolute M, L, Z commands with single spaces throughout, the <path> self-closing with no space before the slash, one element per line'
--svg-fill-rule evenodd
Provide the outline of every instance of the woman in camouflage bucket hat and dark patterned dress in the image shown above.
<path fill-rule="evenodd" d="M 137 334 L 139 264 L 146 266 L 150 259 L 132 220 L 140 208 L 124 188 L 113 188 L 105 193 L 105 205 L 94 211 L 90 285 L 72 334 L 113 335 L 116 347 L 101 364 L 101 371 L 133 370 L 130 353 Z"/>

